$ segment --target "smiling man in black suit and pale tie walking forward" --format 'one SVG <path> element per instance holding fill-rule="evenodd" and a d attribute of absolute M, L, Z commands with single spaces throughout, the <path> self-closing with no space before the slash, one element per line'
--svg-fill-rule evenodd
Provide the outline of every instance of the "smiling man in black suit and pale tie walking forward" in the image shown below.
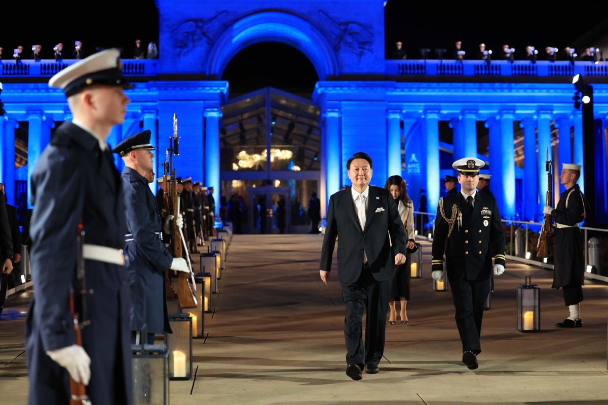
<path fill-rule="evenodd" d="M 384 353 L 390 279 L 395 265 L 406 262 L 406 234 L 393 197 L 370 186 L 371 158 L 357 152 L 347 165 L 353 185 L 330 197 L 320 261 L 320 277 L 330 281 L 331 260 L 339 237 L 338 276 L 346 305 L 344 338 L 347 375 L 375 374 Z M 365 342 L 362 318 L 365 319 Z"/>

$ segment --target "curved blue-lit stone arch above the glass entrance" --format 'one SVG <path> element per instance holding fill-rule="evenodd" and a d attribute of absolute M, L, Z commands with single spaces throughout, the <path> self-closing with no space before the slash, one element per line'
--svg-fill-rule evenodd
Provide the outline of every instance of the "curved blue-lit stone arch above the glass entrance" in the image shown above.
<path fill-rule="evenodd" d="M 207 75 L 221 78 L 238 52 L 268 41 L 288 44 L 306 55 L 320 81 L 338 75 L 336 56 L 322 33 L 308 21 L 282 12 L 255 13 L 227 27 L 209 54 Z"/>

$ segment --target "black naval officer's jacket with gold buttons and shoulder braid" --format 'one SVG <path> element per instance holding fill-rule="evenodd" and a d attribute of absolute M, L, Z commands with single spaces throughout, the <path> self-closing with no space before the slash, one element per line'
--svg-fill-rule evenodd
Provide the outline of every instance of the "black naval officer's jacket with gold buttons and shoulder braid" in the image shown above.
<path fill-rule="evenodd" d="M 462 213 L 461 225 L 458 213 Z M 456 220 L 450 225 L 454 216 Z M 465 272 L 467 280 L 488 279 L 492 253 L 494 264 L 505 265 L 505 231 L 494 197 L 477 192 L 472 212 L 461 192 L 440 199 L 433 235 L 432 270 L 443 270 L 444 252 L 451 282 L 457 278 L 458 270 Z"/>

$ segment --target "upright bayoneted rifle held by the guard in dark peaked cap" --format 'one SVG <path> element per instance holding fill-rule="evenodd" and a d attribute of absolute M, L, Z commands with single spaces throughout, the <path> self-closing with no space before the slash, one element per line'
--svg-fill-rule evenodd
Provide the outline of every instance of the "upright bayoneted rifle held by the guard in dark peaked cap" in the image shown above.
<path fill-rule="evenodd" d="M 178 180 L 176 177 L 175 168 L 173 167 L 173 156 L 179 156 L 179 137 L 178 137 L 178 116 L 173 114 L 173 136 L 169 138 L 169 170 L 171 173 L 171 180 L 169 180 L 169 189 L 171 196 L 171 210 L 173 214 L 172 228 L 173 228 L 173 257 L 183 257 L 182 252 L 182 230 L 177 225 L 179 215 L 179 194 L 178 194 Z M 189 260 L 189 258 L 188 258 Z M 190 284 L 190 276 L 194 277 L 192 267 L 190 267 L 190 274 L 178 271 L 178 302 L 182 308 L 196 307 L 196 297 L 192 286 Z M 196 286 L 195 286 L 196 288 Z"/>

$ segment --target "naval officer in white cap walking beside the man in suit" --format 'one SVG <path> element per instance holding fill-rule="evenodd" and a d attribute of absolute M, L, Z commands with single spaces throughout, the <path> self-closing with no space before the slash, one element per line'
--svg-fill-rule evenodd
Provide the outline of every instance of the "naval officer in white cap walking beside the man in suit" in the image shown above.
<path fill-rule="evenodd" d="M 496 200 L 476 192 L 482 160 L 466 157 L 454 162 L 460 192 L 441 197 L 437 206 L 433 236 L 431 276 L 443 281 L 443 256 L 447 279 L 454 299 L 455 319 L 462 361 L 477 369 L 482 352 L 483 308 L 490 279 L 505 271 L 505 233 Z M 492 253 L 494 265 L 492 267 Z"/>

